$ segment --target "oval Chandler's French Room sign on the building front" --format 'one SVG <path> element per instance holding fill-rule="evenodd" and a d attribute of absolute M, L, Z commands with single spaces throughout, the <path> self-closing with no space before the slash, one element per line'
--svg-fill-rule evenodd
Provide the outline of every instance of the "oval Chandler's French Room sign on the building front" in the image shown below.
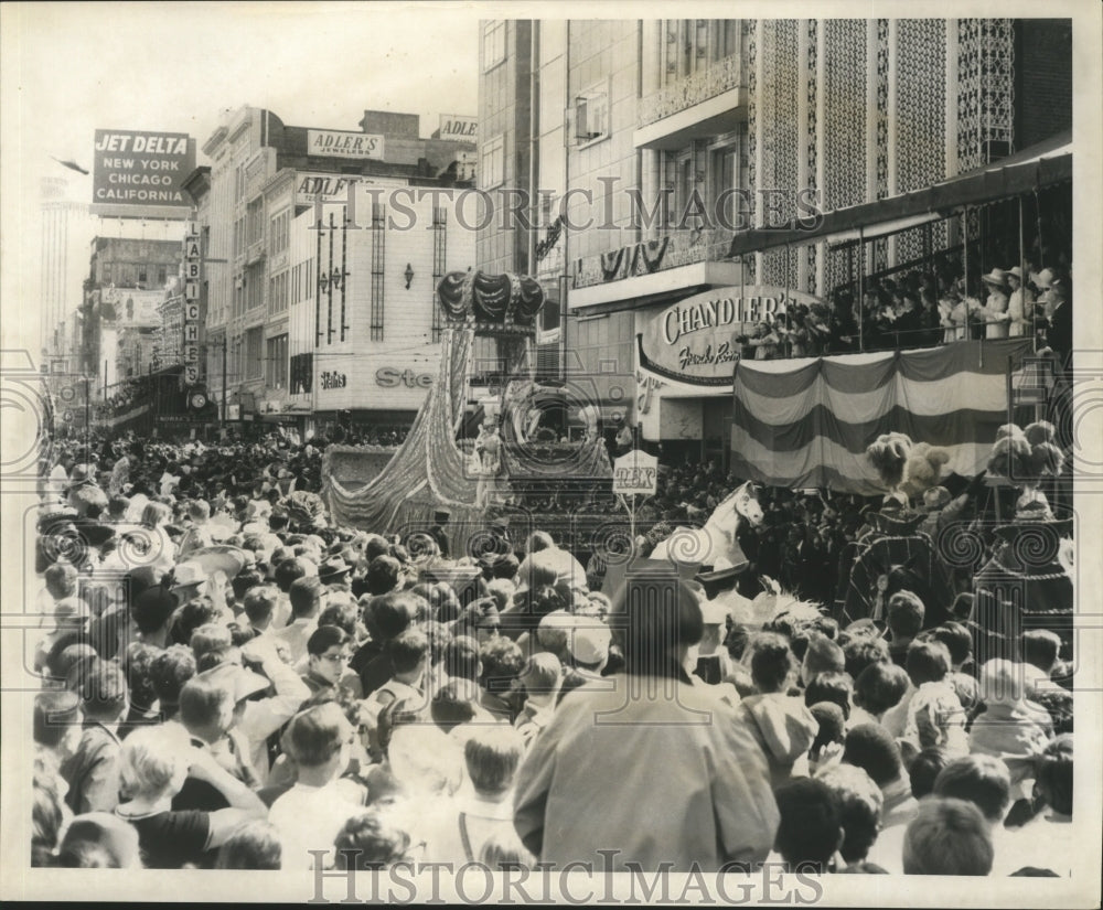
<path fill-rule="evenodd" d="M 812 295 L 771 285 L 717 288 L 663 310 L 638 336 L 640 365 L 690 385 L 731 385 L 741 350 L 737 335 L 773 322 L 793 303 L 818 303 Z"/>

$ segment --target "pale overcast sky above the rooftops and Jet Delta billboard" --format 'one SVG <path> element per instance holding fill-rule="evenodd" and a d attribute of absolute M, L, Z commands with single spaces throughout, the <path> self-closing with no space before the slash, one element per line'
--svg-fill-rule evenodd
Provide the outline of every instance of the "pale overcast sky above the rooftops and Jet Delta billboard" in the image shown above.
<path fill-rule="evenodd" d="M 92 178 L 52 159 L 90 171 L 96 129 L 186 132 L 197 163 L 221 113 L 246 104 L 345 130 L 368 108 L 420 114 L 428 136 L 438 114 L 478 113 L 479 17 L 460 3 L 0 3 L 7 314 L 35 297 L 41 179 L 92 202 Z M 4 320 L 8 346 L 19 322 Z"/>

